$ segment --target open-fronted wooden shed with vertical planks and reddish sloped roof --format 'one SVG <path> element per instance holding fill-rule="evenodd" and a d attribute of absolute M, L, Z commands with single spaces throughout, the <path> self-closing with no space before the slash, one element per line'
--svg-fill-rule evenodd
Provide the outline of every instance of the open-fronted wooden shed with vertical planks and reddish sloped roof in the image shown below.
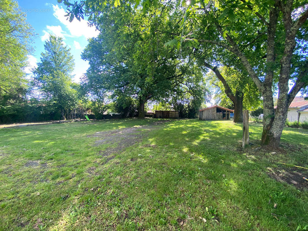
<path fill-rule="evenodd" d="M 199 110 L 199 120 L 230 120 L 231 109 L 213 105 Z"/>

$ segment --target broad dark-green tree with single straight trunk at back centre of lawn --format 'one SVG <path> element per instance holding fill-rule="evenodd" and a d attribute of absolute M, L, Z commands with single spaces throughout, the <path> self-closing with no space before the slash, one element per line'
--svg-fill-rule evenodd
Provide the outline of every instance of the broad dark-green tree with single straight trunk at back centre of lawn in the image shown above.
<path fill-rule="evenodd" d="M 201 70 L 189 68 L 189 60 L 164 47 L 173 30 L 170 9 L 144 14 L 123 3 L 107 5 L 100 14 L 95 25 L 101 33 L 90 39 L 82 55 L 90 64 L 86 86 L 92 93 L 136 97 L 139 118 L 144 118 L 148 100 L 170 97 L 178 86 L 184 87 L 188 76 L 202 78 Z"/>

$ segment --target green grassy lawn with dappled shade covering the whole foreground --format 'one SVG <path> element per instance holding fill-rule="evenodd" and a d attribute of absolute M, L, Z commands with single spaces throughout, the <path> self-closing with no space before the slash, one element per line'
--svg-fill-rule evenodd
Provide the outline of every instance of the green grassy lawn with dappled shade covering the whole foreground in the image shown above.
<path fill-rule="evenodd" d="M 262 125 L 249 128 L 258 143 Z M 286 128 L 285 148 L 275 154 L 243 151 L 242 124 L 230 121 L 107 120 L 0 134 L 0 230 L 308 225 L 308 182 L 295 187 L 270 177 L 296 171 L 278 162 L 307 167 L 307 130 Z"/>

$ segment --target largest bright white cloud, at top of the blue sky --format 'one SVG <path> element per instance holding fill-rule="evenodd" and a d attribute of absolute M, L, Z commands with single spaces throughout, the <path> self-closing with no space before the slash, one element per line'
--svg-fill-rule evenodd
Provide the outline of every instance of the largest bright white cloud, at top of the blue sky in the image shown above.
<path fill-rule="evenodd" d="M 84 36 L 86 39 L 88 39 L 92 37 L 97 37 L 97 35 L 99 34 L 99 31 L 95 30 L 94 26 L 88 26 L 88 22 L 86 20 L 81 19 L 80 21 L 78 21 L 76 18 L 74 18 L 72 22 L 69 22 L 69 20 L 67 20 L 67 16 L 64 16 L 67 13 L 62 8 L 62 6 L 60 8 L 58 5 L 52 5 L 52 7 L 54 10 L 53 15 L 67 27 L 72 36 Z"/>

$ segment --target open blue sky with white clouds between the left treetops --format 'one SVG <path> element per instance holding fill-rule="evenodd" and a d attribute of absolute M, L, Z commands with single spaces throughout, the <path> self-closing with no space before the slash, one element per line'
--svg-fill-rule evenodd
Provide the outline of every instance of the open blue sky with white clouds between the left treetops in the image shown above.
<path fill-rule="evenodd" d="M 80 22 L 74 19 L 69 22 L 64 4 L 59 4 L 56 0 L 51 2 L 19 0 L 20 9 L 26 13 L 27 21 L 33 26 L 35 33 L 38 34 L 34 40 L 34 53 L 28 55 L 30 69 L 40 62 L 40 54 L 44 51 L 44 43 L 49 34 L 54 34 L 63 38 L 65 45 L 71 48 L 71 54 L 75 59 L 74 81 L 79 82 L 79 78 L 89 67 L 88 62 L 80 58 L 81 52 L 87 45 L 87 39 L 96 37 L 99 34 L 95 27 L 89 27 L 86 20 Z"/>

